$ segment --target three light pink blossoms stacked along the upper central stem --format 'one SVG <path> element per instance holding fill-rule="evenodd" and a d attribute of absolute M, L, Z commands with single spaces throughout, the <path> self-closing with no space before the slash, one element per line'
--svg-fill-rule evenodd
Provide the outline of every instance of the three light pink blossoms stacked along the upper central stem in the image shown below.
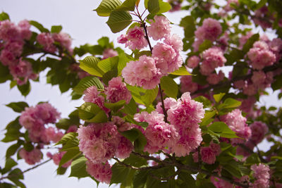
<path fill-rule="evenodd" d="M 171 35 L 169 21 L 164 16 L 157 15 L 154 16 L 154 21 L 151 21 L 152 24 L 147 27 L 148 35 L 156 40 L 164 39 L 164 42 L 158 42 L 153 47 L 152 56 L 140 56 L 138 61 L 127 63 L 122 71 L 126 83 L 145 89 L 154 89 L 162 76 L 178 70 L 183 63 L 180 56 L 183 42 L 178 35 Z M 131 30 L 128 30 L 128 32 L 131 32 Z M 142 37 L 144 37 L 143 35 Z M 118 38 L 118 41 L 125 44 L 128 42 L 123 35 Z M 142 43 L 138 37 L 136 37 L 136 42 L 137 44 Z"/>

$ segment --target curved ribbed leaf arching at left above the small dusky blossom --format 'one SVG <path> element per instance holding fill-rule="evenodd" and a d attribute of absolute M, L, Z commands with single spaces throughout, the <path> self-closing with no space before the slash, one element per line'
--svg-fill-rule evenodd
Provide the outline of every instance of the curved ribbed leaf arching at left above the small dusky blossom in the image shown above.
<path fill-rule="evenodd" d="M 73 88 L 73 91 L 77 94 L 83 94 L 85 89 L 93 85 L 97 87 L 98 91 L 104 91 L 102 82 L 97 77 L 93 76 L 82 78 L 82 80 L 80 80 L 80 82 Z"/>

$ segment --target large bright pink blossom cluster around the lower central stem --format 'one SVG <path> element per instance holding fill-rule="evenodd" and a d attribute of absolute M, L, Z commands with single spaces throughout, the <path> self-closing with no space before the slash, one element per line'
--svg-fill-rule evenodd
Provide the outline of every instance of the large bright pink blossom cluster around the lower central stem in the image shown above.
<path fill-rule="evenodd" d="M 187 92 L 178 101 L 166 98 L 164 109 L 171 124 L 164 122 L 161 102 L 157 104 L 156 111 L 152 113 L 142 111 L 134 116 L 136 121 L 149 124 L 145 130 L 147 139 L 145 151 L 155 153 L 163 150 L 175 153 L 176 156 L 186 156 L 202 142 L 201 130 L 197 123 L 204 117 L 203 106 L 192 100 L 190 93 Z M 165 150 L 166 147 L 168 150 Z"/>

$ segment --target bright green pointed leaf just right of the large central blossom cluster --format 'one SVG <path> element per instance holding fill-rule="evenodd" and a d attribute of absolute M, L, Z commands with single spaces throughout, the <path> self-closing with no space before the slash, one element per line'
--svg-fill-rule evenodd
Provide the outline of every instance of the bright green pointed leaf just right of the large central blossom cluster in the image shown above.
<path fill-rule="evenodd" d="M 235 132 L 223 122 L 215 122 L 208 129 L 224 138 L 238 138 Z"/>

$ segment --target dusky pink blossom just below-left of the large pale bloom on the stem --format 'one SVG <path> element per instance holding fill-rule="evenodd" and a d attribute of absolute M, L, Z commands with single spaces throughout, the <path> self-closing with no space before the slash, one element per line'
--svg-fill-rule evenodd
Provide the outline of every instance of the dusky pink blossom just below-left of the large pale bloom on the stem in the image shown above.
<path fill-rule="evenodd" d="M 121 77 L 113 77 L 109 81 L 109 87 L 106 87 L 105 94 L 106 99 L 113 103 L 125 100 L 125 102 L 128 104 L 131 99 L 131 94 L 126 87 L 126 84 L 122 82 Z"/>

